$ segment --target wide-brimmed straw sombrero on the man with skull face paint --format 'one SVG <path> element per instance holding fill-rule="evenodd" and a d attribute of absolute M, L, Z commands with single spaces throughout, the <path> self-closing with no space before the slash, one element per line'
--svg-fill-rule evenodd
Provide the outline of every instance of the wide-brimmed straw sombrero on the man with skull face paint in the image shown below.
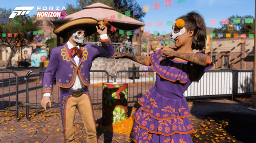
<path fill-rule="evenodd" d="M 74 20 L 70 20 L 60 26 L 58 26 L 53 33 L 62 38 L 69 38 L 68 32 L 82 28 L 86 30 L 86 37 L 94 34 L 98 21 L 92 17 L 82 17 Z"/>

